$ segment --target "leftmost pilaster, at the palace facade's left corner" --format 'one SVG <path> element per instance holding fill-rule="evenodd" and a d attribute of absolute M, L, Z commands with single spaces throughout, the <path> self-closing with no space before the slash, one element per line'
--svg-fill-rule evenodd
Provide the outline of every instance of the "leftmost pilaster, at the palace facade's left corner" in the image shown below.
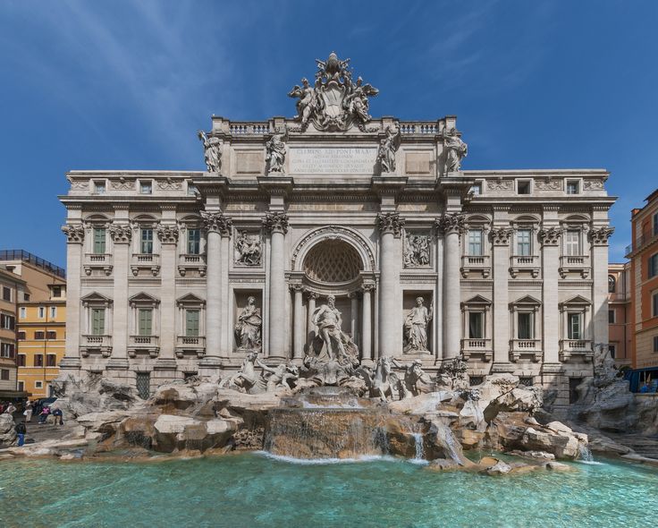
<path fill-rule="evenodd" d="M 66 347 L 60 369 L 79 370 L 80 363 L 80 270 L 85 228 L 80 223 L 62 226 L 66 234 Z"/>

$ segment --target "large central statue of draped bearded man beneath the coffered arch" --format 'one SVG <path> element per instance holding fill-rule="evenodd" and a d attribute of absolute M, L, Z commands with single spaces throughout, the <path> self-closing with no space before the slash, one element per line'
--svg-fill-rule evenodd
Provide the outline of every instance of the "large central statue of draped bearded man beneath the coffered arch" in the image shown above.
<path fill-rule="evenodd" d="M 352 362 L 354 358 L 359 357 L 359 349 L 350 336 L 342 331 L 341 312 L 336 308 L 335 301 L 336 298 L 329 295 L 326 304 L 313 312 L 317 336 L 313 340 L 312 348 L 320 359 L 340 363 Z"/>

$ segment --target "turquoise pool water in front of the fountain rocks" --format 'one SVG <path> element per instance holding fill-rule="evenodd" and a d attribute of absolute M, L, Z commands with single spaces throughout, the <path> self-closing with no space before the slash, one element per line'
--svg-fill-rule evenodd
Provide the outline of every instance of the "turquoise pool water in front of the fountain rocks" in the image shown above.
<path fill-rule="evenodd" d="M 307 461 L 308 462 L 308 461 Z M 639 526 L 658 471 L 434 473 L 386 459 L 290 464 L 262 454 L 167 462 L 0 463 L 0 526 Z"/>

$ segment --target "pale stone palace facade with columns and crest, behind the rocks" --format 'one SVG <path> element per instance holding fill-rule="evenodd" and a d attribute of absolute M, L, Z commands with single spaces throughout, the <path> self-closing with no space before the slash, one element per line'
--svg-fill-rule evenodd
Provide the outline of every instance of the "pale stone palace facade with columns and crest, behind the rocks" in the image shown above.
<path fill-rule="evenodd" d="M 608 341 L 607 172 L 462 170 L 454 116 L 375 119 L 377 93 L 332 54 L 295 117 L 214 116 L 207 171 L 69 173 L 62 368 L 148 394 L 340 334 L 362 362 L 463 355 L 567 403 Z"/>

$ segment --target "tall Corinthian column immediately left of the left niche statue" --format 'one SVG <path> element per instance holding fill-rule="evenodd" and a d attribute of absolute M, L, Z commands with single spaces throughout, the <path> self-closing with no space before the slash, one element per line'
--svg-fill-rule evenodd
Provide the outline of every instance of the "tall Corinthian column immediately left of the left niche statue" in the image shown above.
<path fill-rule="evenodd" d="M 222 346 L 222 255 L 221 236 L 231 231 L 232 220 L 220 212 L 201 211 L 203 226 L 207 231 L 207 310 L 206 310 L 206 356 L 200 366 L 216 369 L 220 366 L 219 354 Z M 207 372 L 212 374 L 213 372 Z"/>

